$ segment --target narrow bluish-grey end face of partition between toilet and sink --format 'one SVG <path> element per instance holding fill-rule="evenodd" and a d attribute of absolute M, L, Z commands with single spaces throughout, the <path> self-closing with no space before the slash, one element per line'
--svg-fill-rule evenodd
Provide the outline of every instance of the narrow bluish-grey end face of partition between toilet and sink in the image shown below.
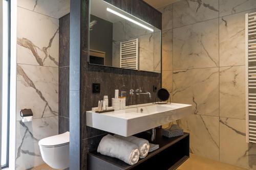
<path fill-rule="evenodd" d="M 70 1 L 70 169 L 80 169 L 80 0 Z"/>

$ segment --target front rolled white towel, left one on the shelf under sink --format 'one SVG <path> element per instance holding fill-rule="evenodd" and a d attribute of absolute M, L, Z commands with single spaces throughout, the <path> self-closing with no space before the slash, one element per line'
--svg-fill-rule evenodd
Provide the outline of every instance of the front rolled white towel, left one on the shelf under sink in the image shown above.
<path fill-rule="evenodd" d="M 136 144 L 116 138 L 110 134 L 101 139 L 97 152 L 118 158 L 130 165 L 137 163 L 140 155 Z"/>

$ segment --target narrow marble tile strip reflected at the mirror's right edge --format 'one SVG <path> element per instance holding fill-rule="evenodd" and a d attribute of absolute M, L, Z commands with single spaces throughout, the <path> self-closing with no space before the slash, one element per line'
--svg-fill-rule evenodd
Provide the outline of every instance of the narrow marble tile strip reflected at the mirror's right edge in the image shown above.
<path fill-rule="evenodd" d="M 154 33 L 154 72 L 161 73 L 161 32 Z"/>

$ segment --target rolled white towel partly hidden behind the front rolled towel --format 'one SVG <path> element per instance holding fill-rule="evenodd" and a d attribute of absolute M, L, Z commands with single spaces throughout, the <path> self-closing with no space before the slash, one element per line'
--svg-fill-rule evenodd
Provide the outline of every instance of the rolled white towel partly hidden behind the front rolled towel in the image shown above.
<path fill-rule="evenodd" d="M 138 138 L 135 136 L 128 136 L 128 137 L 123 137 L 120 135 L 114 135 L 114 136 L 119 139 L 123 139 L 123 140 L 126 140 L 126 141 L 136 144 L 139 148 L 141 159 L 145 158 L 148 154 L 148 151 L 150 150 L 150 143 L 146 139 Z"/>

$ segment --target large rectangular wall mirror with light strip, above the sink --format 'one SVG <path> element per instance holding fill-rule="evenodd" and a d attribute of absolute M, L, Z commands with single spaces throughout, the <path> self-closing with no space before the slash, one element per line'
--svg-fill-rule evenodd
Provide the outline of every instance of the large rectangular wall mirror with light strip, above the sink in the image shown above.
<path fill-rule="evenodd" d="M 103 0 L 91 0 L 89 62 L 160 72 L 161 30 Z"/>

